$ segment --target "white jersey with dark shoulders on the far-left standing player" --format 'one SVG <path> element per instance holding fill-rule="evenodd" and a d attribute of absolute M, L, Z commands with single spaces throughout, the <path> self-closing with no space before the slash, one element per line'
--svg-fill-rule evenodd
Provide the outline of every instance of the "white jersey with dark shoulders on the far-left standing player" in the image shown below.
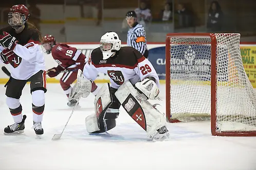
<path fill-rule="evenodd" d="M 40 70 L 45 70 L 45 60 L 38 31 L 28 28 L 25 24 L 24 30 L 17 34 L 13 28 L 5 27 L 1 31 L 6 31 L 19 41 L 13 52 L 16 56 L 10 61 L 11 77 L 19 80 L 27 80 Z M 3 48 L 1 49 L 3 50 Z"/>

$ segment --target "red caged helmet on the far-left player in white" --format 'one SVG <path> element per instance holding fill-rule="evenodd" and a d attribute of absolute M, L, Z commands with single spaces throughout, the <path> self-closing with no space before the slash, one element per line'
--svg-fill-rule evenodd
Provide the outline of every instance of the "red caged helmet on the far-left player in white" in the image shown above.
<path fill-rule="evenodd" d="M 25 5 L 14 5 L 8 13 L 8 24 L 13 29 L 19 29 L 25 25 L 29 17 L 28 8 Z"/>

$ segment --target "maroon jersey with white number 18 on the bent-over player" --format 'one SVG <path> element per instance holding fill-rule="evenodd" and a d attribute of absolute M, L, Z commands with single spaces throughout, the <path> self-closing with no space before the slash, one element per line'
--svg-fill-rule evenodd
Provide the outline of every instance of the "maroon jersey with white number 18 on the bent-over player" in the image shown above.
<path fill-rule="evenodd" d="M 78 67 L 83 69 L 85 64 L 85 55 L 78 49 L 66 44 L 57 44 L 52 47 L 51 54 L 54 60 L 63 68 L 71 69 Z"/>

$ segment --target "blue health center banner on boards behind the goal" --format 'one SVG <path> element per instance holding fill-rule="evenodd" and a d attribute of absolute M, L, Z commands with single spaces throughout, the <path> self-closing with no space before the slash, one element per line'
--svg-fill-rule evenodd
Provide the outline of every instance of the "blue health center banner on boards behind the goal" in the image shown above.
<path fill-rule="evenodd" d="M 171 47 L 171 78 L 210 80 L 211 53 L 209 45 L 175 45 Z M 149 60 L 156 69 L 159 79 L 166 79 L 165 47 L 149 50 Z"/>

